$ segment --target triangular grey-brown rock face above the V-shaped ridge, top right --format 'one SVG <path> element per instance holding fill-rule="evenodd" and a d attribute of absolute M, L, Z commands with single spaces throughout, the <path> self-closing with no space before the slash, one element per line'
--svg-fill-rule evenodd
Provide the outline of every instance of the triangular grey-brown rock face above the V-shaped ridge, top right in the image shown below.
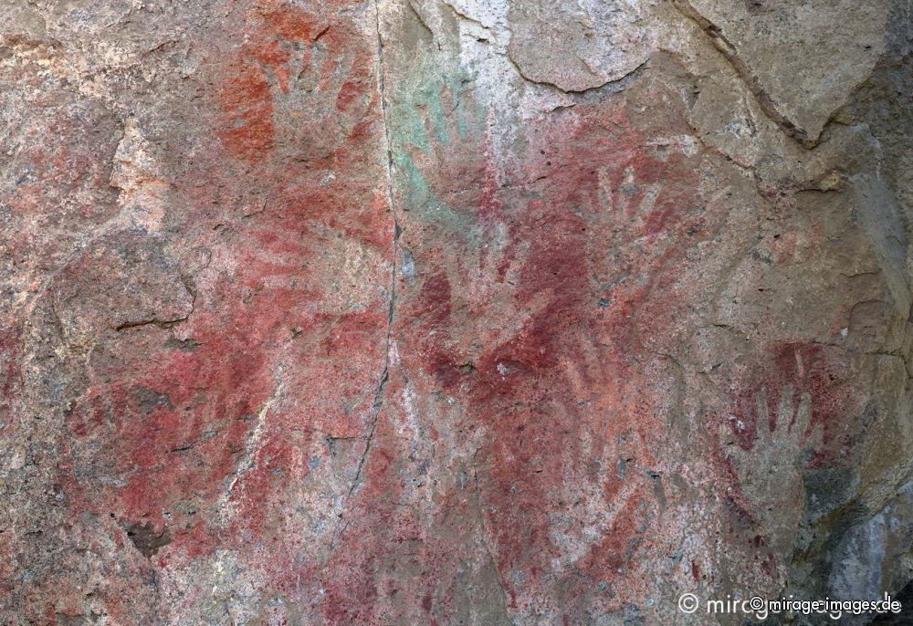
<path fill-rule="evenodd" d="M 675 0 L 782 122 L 818 141 L 885 50 L 887 3 Z"/>

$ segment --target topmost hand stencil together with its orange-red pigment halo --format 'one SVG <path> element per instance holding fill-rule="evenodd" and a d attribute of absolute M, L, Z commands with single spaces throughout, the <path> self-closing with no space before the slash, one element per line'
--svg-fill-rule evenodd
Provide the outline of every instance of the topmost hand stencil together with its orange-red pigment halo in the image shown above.
<path fill-rule="evenodd" d="M 302 10 L 255 12 L 218 89 L 218 134 L 248 160 L 313 162 L 338 151 L 377 108 L 372 50 L 348 22 Z"/>

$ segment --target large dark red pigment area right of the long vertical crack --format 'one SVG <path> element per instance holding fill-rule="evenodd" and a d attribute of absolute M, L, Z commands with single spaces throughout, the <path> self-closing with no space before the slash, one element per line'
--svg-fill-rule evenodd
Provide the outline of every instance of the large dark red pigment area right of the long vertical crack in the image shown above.
<path fill-rule="evenodd" d="M 498 210 L 488 214 L 503 219 L 508 232 L 499 258 L 490 251 L 453 250 L 444 228 L 426 226 L 424 278 L 402 313 L 415 336 L 404 337 L 400 349 L 413 371 L 410 379 L 417 386 L 420 374 L 430 377 L 466 406 L 467 423 L 486 433 L 477 455 L 486 468 L 484 481 L 480 476 L 483 510 L 500 577 L 519 610 L 549 596 L 546 589 L 557 584 L 547 582 L 550 577 L 563 579 L 553 564 L 566 553 L 556 543 L 556 525 L 569 516 L 578 526 L 568 532 L 578 532 L 578 511 L 591 497 L 590 490 L 578 495 L 573 485 L 594 483 L 601 501 L 593 506 L 617 510 L 604 522 L 603 539 L 568 564 L 587 579 L 568 584 L 630 579 L 627 569 L 648 548 L 657 503 L 645 474 L 653 463 L 648 450 L 658 429 L 655 409 L 663 399 L 649 395 L 635 359 L 648 354 L 647 338 L 662 340 L 664 332 L 668 338 L 665 320 L 687 302 L 677 289 L 676 264 L 709 236 L 701 230 L 703 207 L 693 202 L 693 159 L 679 152 L 660 158 L 647 150 L 650 138 L 633 130 L 623 108 L 579 106 L 574 115 L 570 132 L 568 119 L 529 130 L 535 139 L 519 168 L 524 180 L 492 199 Z M 436 169 L 451 172 L 457 165 L 437 163 Z M 478 162 L 461 167 L 474 177 L 454 183 L 465 189 L 485 188 L 486 172 L 494 169 Z M 611 209 L 606 186 L 616 196 Z M 472 215 L 484 240 L 498 224 L 487 224 L 483 213 Z M 606 258 L 616 243 L 624 250 L 621 266 Z M 467 278 L 479 273 L 474 259 L 495 264 L 497 273 L 480 278 L 496 281 L 482 286 L 492 296 L 469 308 L 468 294 L 479 289 Z M 613 265 L 631 278 L 601 308 L 601 281 L 594 276 Z M 491 329 L 510 328 L 514 319 L 509 337 L 496 339 Z M 416 392 L 430 395 L 433 389 Z M 625 479 L 614 475 L 622 453 L 632 473 Z M 594 459 L 603 469 L 593 471 Z"/>

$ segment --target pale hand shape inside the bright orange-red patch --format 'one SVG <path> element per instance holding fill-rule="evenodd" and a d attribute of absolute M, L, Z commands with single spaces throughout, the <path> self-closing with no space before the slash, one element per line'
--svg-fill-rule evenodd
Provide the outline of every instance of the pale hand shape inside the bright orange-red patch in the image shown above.
<path fill-rule="evenodd" d="M 336 151 L 368 111 L 366 59 L 333 37 L 281 41 L 285 62 L 259 61 L 272 98 L 274 143 L 296 161 Z"/>

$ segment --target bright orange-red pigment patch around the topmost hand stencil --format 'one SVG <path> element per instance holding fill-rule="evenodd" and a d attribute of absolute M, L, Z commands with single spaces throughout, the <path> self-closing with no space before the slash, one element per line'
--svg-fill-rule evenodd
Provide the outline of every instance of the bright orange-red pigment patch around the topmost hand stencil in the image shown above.
<path fill-rule="evenodd" d="M 308 154 L 309 144 L 327 141 L 340 120 L 352 127 L 346 129 L 348 134 L 364 132 L 360 120 L 366 110 L 373 109 L 376 99 L 373 56 L 355 27 L 334 19 L 332 9 L 323 5 L 319 13 L 309 13 L 289 2 L 269 0 L 248 12 L 245 42 L 230 53 L 225 78 L 217 88 L 221 114 L 216 133 L 236 158 L 251 162 L 268 158 L 279 147 L 277 123 L 288 127 L 286 141 L 294 141 L 286 146 L 290 152 L 285 155 L 285 165 L 301 156 L 296 149 Z M 323 49 L 320 58 L 315 56 L 318 41 Z M 298 52 L 293 52 L 296 48 Z M 299 56 L 300 68 L 296 65 Z M 341 67 L 344 60 L 339 59 L 351 59 L 351 67 Z M 278 110 L 277 95 L 289 96 L 292 81 L 299 79 L 291 76 L 292 71 L 317 72 L 318 93 L 337 89 L 335 95 L 321 96 L 334 98 L 334 109 L 320 113 L 319 105 L 313 103 L 317 99 L 313 99 L 299 103 L 303 110 L 298 112 Z M 341 72 L 348 73 L 341 77 Z M 270 85 L 270 79 L 276 84 Z M 337 80 L 341 85 L 335 85 Z M 307 94 L 299 94 L 299 98 L 307 99 Z M 315 119 L 315 115 L 324 117 Z M 331 143 L 328 150 L 334 147 Z"/>

